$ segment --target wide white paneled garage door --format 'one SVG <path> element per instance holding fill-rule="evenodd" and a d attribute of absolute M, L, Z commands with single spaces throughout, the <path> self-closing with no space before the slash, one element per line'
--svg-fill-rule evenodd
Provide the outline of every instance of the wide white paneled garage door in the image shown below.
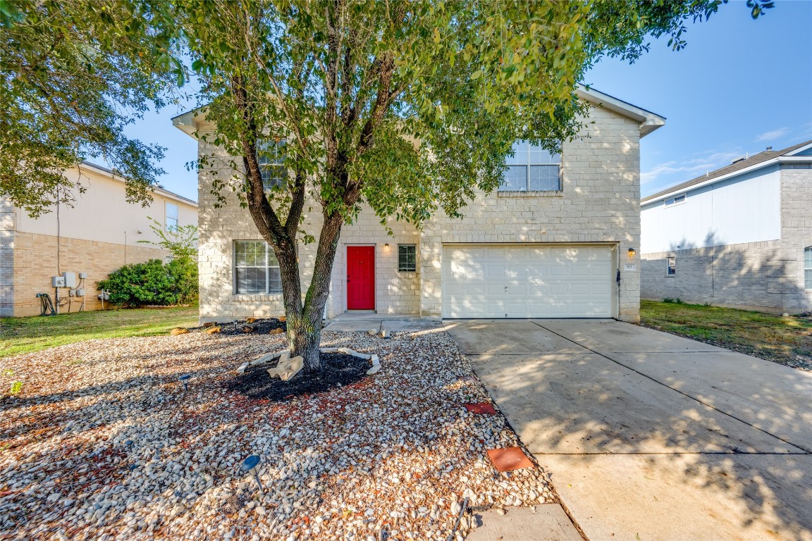
<path fill-rule="evenodd" d="M 447 246 L 443 317 L 611 317 L 610 247 Z"/>

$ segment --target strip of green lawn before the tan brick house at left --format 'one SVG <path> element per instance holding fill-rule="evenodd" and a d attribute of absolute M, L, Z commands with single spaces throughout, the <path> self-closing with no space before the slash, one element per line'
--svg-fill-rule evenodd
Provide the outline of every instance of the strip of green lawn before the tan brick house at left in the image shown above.
<path fill-rule="evenodd" d="M 196 327 L 197 306 L 84 311 L 0 319 L 0 358 L 92 338 L 146 337 Z"/>

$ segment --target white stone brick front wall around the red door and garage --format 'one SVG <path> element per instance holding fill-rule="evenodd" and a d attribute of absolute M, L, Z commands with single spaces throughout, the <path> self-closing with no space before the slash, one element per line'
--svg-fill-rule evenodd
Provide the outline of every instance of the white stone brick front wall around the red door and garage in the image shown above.
<path fill-rule="evenodd" d="M 199 126 L 205 131 L 205 123 Z M 628 249 L 640 245 L 640 133 L 641 122 L 608 109 L 591 109 L 585 130 L 562 149 L 562 190 L 542 196 L 515 193 L 481 194 L 462 209 L 464 217 L 433 217 L 421 231 L 389 221 L 394 236 L 386 234 L 369 208 L 352 225 L 345 225 L 339 241 L 327 301 L 326 316 L 347 308 L 347 247 L 375 247 L 375 309 L 378 313 L 441 315 L 443 245 L 448 243 L 603 244 L 611 247 L 620 268 L 620 290 L 615 276 L 613 313 L 622 320 L 639 320 L 639 261 L 628 259 Z M 218 152 L 201 142 L 201 154 Z M 229 176 L 229 171 L 222 172 Z M 248 210 L 229 195 L 214 208 L 208 174 L 199 180 L 201 320 L 233 320 L 246 316 L 280 316 L 282 294 L 235 294 L 235 240 L 258 240 L 260 235 Z M 308 210 L 308 208 L 305 208 Z M 305 214 L 304 229 L 317 236 L 320 207 Z M 397 245 L 417 244 L 417 272 L 399 273 Z M 389 248 L 386 249 L 385 245 Z M 300 243 L 303 290 L 312 275 L 315 245 Z M 624 270 L 633 263 L 633 270 Z M 303 291 L 304 292 L 304 291 Z"/>

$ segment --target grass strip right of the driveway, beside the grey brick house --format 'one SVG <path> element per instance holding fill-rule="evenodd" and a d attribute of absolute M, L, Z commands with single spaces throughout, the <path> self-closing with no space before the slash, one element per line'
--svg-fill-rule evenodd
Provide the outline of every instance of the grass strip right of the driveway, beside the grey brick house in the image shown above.
<path fill-rule="evenodd" d="M 812 318 L 642 301 L 641 324 L 779 363 L 812 362 Z"/>

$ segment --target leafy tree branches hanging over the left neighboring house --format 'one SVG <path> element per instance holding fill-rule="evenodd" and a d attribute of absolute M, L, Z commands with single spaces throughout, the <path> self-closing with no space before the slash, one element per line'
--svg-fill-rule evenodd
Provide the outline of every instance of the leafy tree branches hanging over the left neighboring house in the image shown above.
<path fill-rule="evenodd" d="M 147 203 L 162 148 L 124 133 L 177 90 L 171 6 L 149 0 L 0 2 L 0 195 L 33 217 L 84 186 L 64 172 L 104 157 Z"/>

